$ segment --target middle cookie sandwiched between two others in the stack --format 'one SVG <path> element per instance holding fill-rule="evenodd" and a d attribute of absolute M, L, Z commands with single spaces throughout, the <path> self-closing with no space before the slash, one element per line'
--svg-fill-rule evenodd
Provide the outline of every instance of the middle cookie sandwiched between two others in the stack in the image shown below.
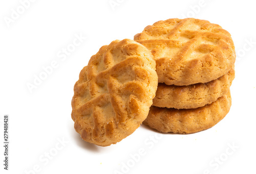
<path fill-rule="evenodd" d="M 234 79 L 234 68 L 227 74 L 207 83 L 187 86 L 158 83 L 153 105 L 168 108 L 197 108 L 216 101 L 229 91 Z"/>

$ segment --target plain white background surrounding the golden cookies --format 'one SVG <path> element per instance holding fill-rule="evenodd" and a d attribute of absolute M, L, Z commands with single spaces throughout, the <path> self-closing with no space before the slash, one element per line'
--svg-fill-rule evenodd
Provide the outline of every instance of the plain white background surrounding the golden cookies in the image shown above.
<path fill-rule="evenodd" d="M 1 1 L 1 173 L 255 173 L 256 12 L 252 1 L 114 0 L 119 2 L 114 8 L 109 2 L 37 0 L 23 11 L 20 1 Z M 12 9 L 22 14 L 15 16 Z M 176 17 L 206 19 L 232 35 L 237 61 L 228 115 L 196 134 L 159 134 L 142 125 L 108 147 L 81 140 L 73 128 L 71 99 L 79 72 L 90 57 L 112 40 L 133 39 L 147 25 Z M 66 59 L 59 57 L 75 35 L 87 38 Z M 57 68 L 30 93 L 27 84 L 33 84 L 35 76 L 44 72 L 42 67 L 53 61 Z M 3 169 L 5 114 L 10 117 L 8 171 Z M 139 151 L 143 151 L 140 157 Z"/>

